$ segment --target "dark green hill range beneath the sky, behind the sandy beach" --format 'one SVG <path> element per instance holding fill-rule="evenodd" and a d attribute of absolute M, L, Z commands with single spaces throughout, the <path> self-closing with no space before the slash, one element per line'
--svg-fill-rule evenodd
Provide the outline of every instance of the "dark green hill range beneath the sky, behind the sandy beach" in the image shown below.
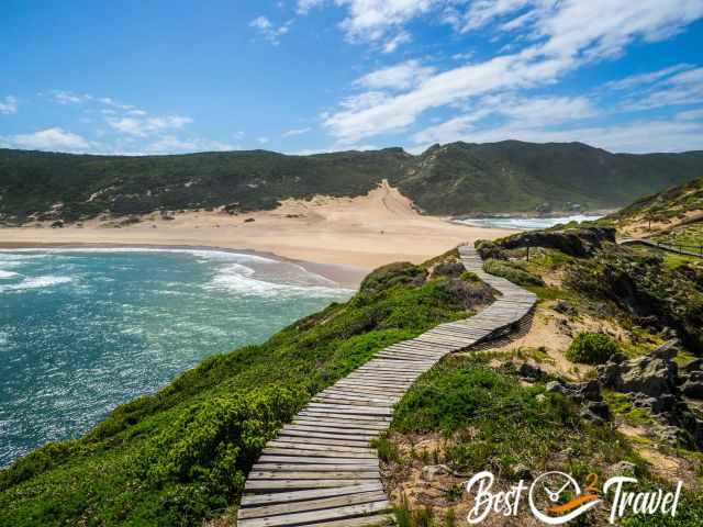
<path fill-rule="evenodd" d="M 265 150 L 89 156 L 0 149 L 0 221 L 76 221 L 103 212 L 227 206 L 268 210 L 287 198 L 355 197 L 383 179 L 429 214 L 617 208 L 703 173 L 703 152 L 610 154 L 579 143 L 454 143 L 289 156 Z"/>

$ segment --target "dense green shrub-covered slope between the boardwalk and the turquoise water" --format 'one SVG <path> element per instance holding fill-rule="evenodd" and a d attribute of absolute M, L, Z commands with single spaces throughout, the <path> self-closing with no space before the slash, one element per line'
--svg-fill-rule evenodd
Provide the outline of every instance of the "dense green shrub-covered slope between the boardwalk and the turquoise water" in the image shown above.
<path fill-rule="evenodd" d="M 82 438 L 20 459 L 0 471 L 0 525 L 197 525 L 236 504 L 266 441 L 314 393 L 379 349 L 467 316 L 451 282 L 425 274 L 379 269 L 348 302 L 211 357 Z"/>

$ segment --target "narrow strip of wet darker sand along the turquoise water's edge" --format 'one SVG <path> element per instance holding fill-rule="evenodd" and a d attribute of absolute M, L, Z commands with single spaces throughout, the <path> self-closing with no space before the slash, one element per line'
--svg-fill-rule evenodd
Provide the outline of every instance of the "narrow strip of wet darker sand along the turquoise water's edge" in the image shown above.
<path fill-rule="evenodd" d="M 212 253 L 227 253 L 232 255 L 250 255 L 270 258 L 274 260 L 293 264 L 302 267 L 309 272 L 320 274 L 327 280 L 332 280 L 339 289 L 358 289 L 361 280 L 369 273 L 367 269 L 343 264 L 321 264 L 316 261 L 288 258 L 276 253 L 255 249 L 235 249 L 232 247 L 219 247 L 212 245 L 167 245 L 167 244 L 102 244 L 102 243 L 30 243 L 30 242 L 1 242 L 0 253 L 11 253 L 13 250 L 45 250 L 45 249 L 142 249 L 142 250 L 175 250 L 191 251 L 202 250 Z"/>

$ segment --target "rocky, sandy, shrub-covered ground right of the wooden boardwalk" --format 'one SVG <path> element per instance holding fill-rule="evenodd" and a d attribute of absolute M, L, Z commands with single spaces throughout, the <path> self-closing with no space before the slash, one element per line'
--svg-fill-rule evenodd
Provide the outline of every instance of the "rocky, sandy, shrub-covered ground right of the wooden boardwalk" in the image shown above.
<path fill-rule="evenodd" d="M 599 482 L 634 475 L 643 490 L 671 490 L 681 479 L 685 513 L 628 516 L 623 525 L 696 525 L 703 414 L 692 388 L 703 354 L 701 262 L 671 267 L 659 255 L 616 245 L 615 232 L 602 226 L 477 247 L 487 270 L 540 300 L 514 344 L 445 358 L 399 403 L 382 457 L 399 517 L 410 526 L 455 525 L 471 503 L 461 486 L 471 474 L 489 470 L 507 490 L 560 470 L 578 481 L 589 473 Z M 694 394 L 693 402 L 682 393 Z M 580 525 L 603 525 L 606 516 L 602 507 Z M 515 525 L 532 520 L 525 509 Z"/>

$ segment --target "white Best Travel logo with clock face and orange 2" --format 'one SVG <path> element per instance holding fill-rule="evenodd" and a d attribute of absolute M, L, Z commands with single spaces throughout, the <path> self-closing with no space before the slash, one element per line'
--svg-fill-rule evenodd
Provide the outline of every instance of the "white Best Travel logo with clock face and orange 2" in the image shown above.
<path fill-rule="evenodd" d="M 491 472 L 479 472 L 467 484 L 467 493 L 473 497 L 473 507 L 469 511 L 469 524 L 479 524 L 489 515 L 516 516 L 521 507 L 528 506 L 539 522 L 547 525 L 561 525 L 588 511 L 605 504 L 604 497 L 611 497 L 609 522 L 628 514 L 657 514 L 676 516 L 683 483 L 678 482 L 673 492 L 661 489 L 650 492 L 636 492 L 637 479 L 624 475 L 610 478 L 598 487 L 598 475 L 589 474 L 584 489 L 571 475 L 551 471 L 536 478 L 531 485 L 524 480 L 507 491 L 493 492 L 495 478 Z"/>

